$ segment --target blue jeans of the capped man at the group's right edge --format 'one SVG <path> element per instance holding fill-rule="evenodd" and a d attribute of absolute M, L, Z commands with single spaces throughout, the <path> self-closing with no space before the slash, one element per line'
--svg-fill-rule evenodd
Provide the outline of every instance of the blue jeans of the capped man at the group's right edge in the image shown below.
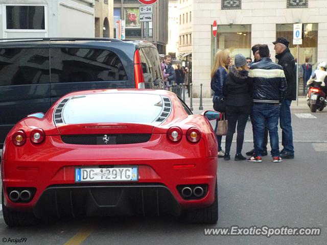
<path fill-rule="evenodd" d="M 282 102 L 279 118 L 279 124 L 282 129 L 282 144 L 284 146 L 284 150 L 294 154 L 294 146 L 293 146 L 293 131 L 292 131 L 292 118 L 291 118 L 291 100 L 284 100 Z"/>

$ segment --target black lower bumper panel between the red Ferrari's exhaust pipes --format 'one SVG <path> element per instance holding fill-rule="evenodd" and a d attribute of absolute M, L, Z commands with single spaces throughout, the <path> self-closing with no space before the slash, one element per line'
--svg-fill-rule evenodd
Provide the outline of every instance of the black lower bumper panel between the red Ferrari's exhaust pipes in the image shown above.
<path fill-rule="evenodd" d="M 160 184 L 50 186 L 33 208 L 38 218 L 61 216 L 159 215 L 178 216 L 181 207 Z"/>

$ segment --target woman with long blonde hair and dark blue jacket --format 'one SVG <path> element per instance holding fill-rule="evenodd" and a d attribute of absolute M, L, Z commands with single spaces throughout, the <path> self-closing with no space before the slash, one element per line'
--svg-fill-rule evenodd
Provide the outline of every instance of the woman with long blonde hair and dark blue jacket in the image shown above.
<path fill-rule="evenodd" d="M 214 67 L 211 70 L 211 88 L 214 90 L 214 109 L 219 112 L 225 112 L 223 106 L 218 106 L 223 104 L 223 83 L 228 74 L 228 64 L 230 63 L 229 51 L 220 50 L 215 55 Z M 216 123 L 215 132 L 217 130 L 218 121 Z M 218 157 L 224 157 L 225 152 L 221 148 L 221 135 L 217 135 L 218 142 Z"/>

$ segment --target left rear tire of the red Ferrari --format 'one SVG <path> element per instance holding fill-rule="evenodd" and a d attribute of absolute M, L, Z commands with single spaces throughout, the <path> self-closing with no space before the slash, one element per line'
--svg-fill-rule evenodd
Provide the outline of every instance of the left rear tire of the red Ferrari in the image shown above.
<path fill-rule="evenodd" d="M 4 190 L 1 193 L 2 196 L 2 213 L 4 215 L 5 222 L 9 227 L 16 226 L 34 226 L 38 224 L 38 219 L 33 213 L 18 212 L 10 210 L 4 205 Z"/>

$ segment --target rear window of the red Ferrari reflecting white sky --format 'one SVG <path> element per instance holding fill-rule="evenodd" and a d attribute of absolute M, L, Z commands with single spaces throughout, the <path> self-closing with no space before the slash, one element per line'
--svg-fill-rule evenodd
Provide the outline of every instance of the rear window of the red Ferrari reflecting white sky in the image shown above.
<path fill-rule="evenodd" d="M 62 111 L 65 124 L 97 122 L 160 123 L 167 97 L 147 93 L 100 93 L 74 96 Z M 171 104 L 169 100 L 169 105 Z"/>

